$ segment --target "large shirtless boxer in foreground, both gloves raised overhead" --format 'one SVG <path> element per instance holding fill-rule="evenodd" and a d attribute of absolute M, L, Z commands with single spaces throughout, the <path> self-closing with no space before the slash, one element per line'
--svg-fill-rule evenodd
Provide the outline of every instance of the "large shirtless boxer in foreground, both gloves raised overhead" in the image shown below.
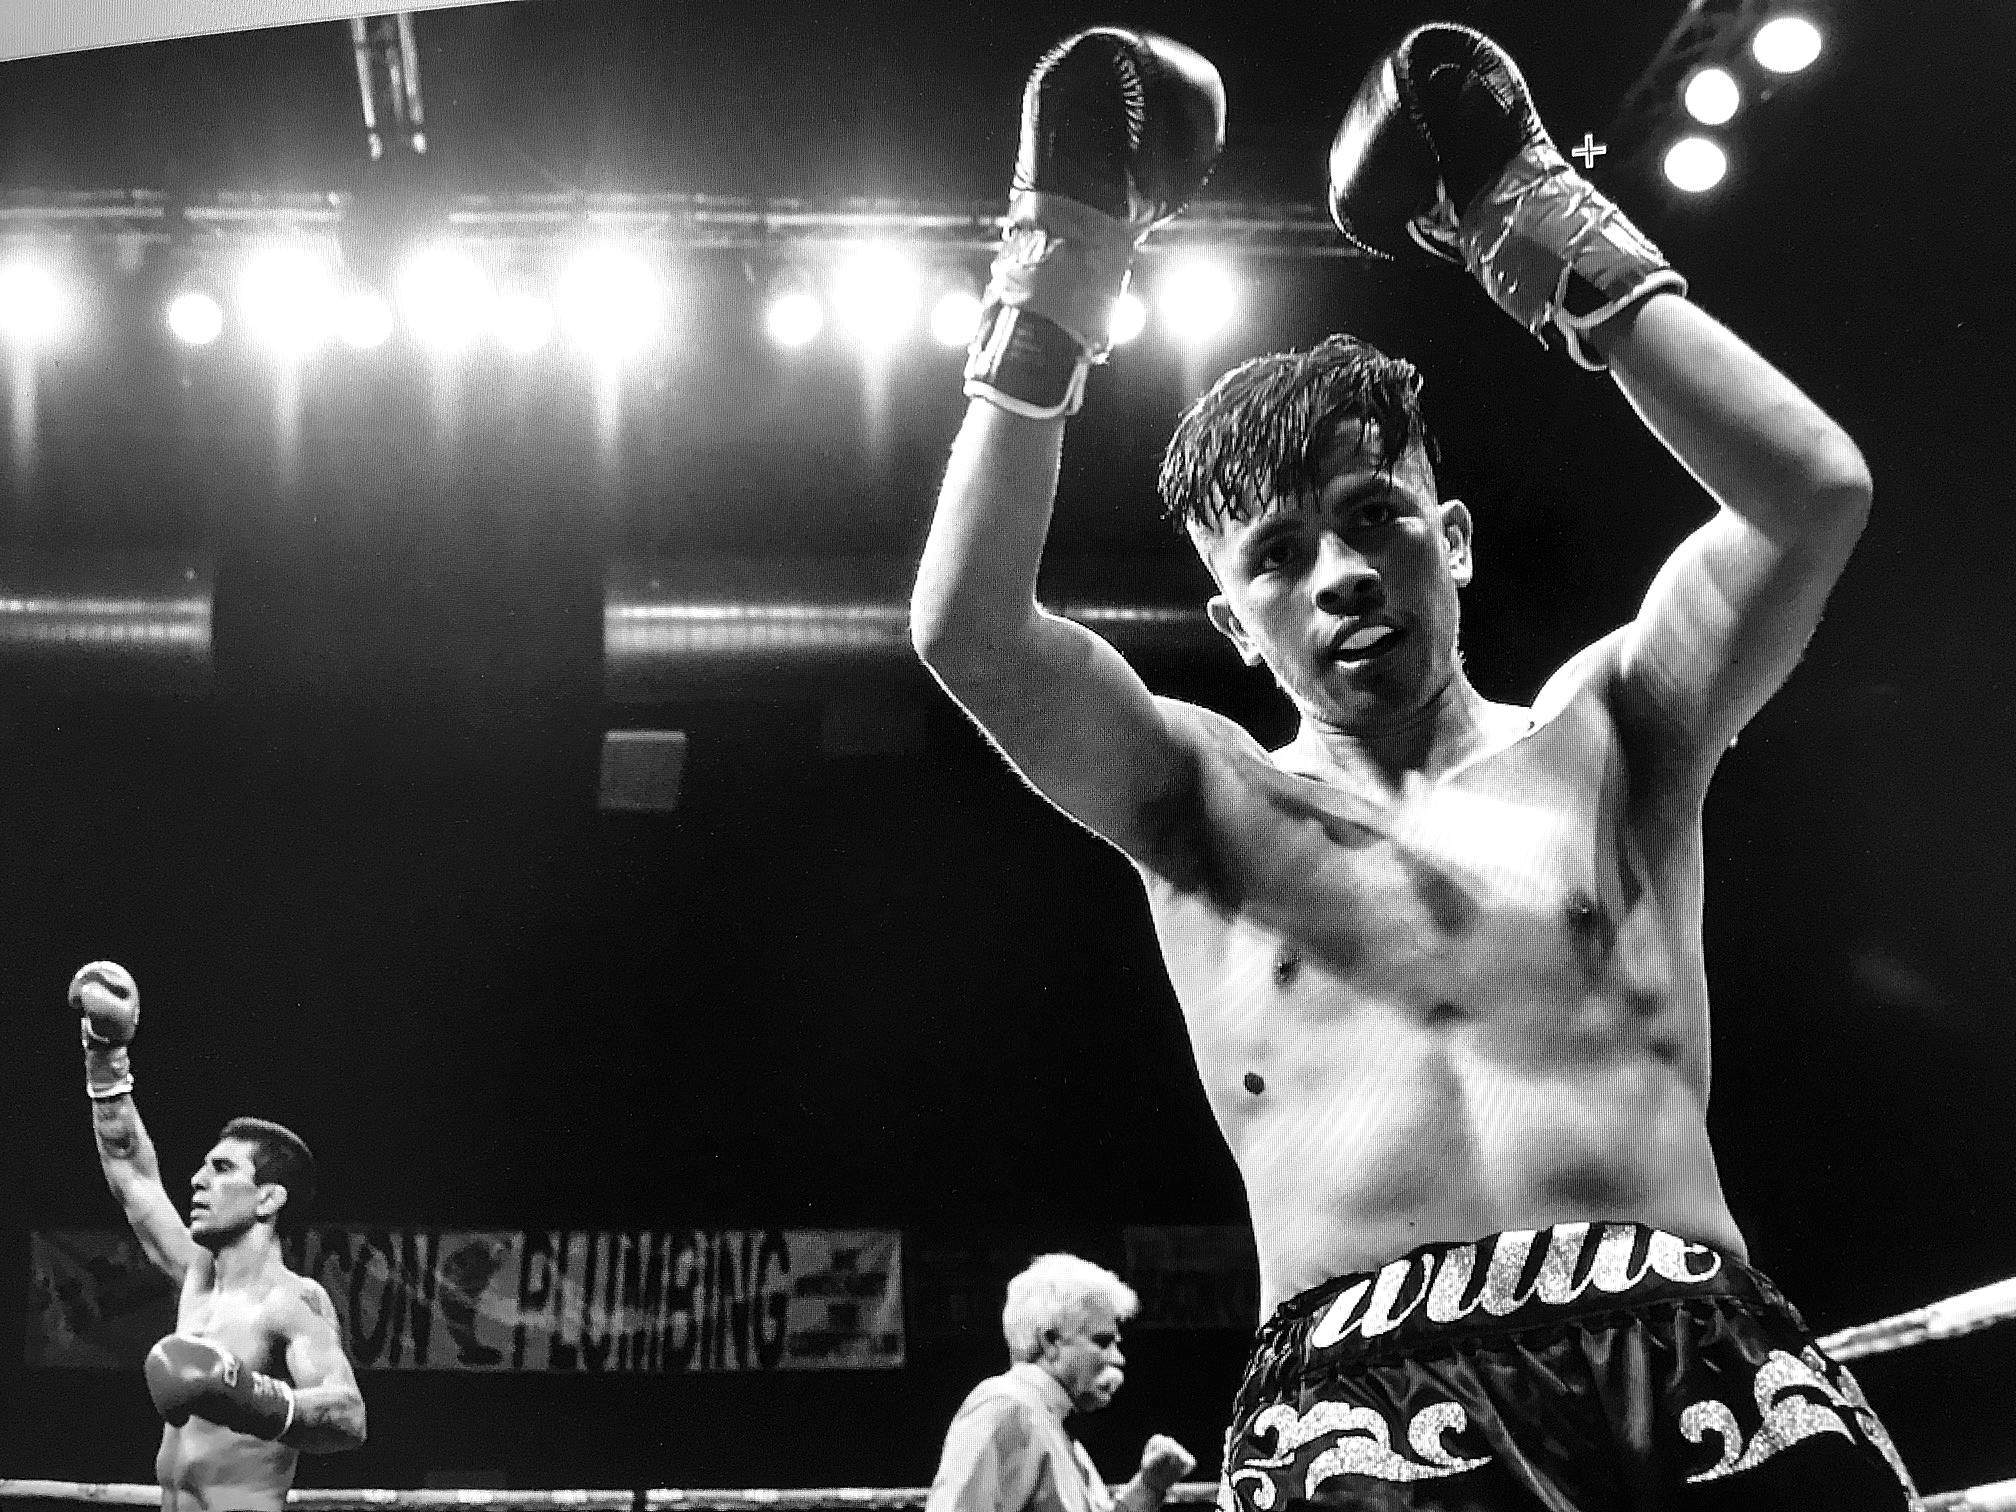
<path fill-rule="evenodd" d="M 1349 337 L 1258 359 L 1161 484 L 1300 730 L 1268 752 L 1151 696 L 1034 585 L 1107 312 L 1222 113 L 1167 38 L 1038 65 L 911 605 L 946 689 L 1147 889 L 1272 1314 L 1222 1500 L 1903 1508 L 1853 1379 L 1748 1268 L 1706 1129 L 1702 804 L 1861 534 L 1863 458 L 1568 169 L 1512 58 L 1421 28 L 1337 133 L 1339 228 L 1607 367 L 1716 516 L 1532 708 L 1488 702 L 1415 371 Z"/>

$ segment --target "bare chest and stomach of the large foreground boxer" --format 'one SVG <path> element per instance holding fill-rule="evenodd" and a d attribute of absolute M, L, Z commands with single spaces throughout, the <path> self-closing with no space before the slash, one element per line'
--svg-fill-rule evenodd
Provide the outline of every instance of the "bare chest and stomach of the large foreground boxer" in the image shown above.
<path fill-rule="evenodd" d="M 1706 1131 L 1697 800 L 1633 786 L 1595 689 L 1524 734 L 1498 714 L 1494 748 L 1397 792 L 1193 726 L 1200 849 L 1143 877 L 1268 1310 L 1562 1220 L 1744 1252 Z"/>

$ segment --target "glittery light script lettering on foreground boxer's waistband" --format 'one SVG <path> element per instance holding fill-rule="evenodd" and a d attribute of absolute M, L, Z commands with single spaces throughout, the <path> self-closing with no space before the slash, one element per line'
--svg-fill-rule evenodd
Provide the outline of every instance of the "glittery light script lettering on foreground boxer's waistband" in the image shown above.
<path fill-rule="evenodd" d="M 1591 1246 L 1591 1232 L 1605 1230 Z M 1512 1230 L 1490 1240 L 1456 1244 L 1439 1254 L 1409 1256 L 1343 1290 L 1308 1337 L 1310 1349 L 1357 1335 L 1377 1339 L 1397 1329 L 1415 1308 L 1431 1322 L 1458 1322 L 1472 1312 L 1504 1318 L 1526 1302 L 1562 1306 L 1589 1290 L 1621 1294 L 1647 1272 L 1663 1280 L 1702 1282 L 1722 1270 L 1722 1256 L 1673 1234 L 1627 1226 L 1556 1224 L 1546 1252 L 1528 1278 L 1536 1230 Z M 1643 1238 L 1645 1252 L 1633 1264 Z M 1585 1254 L 1595 1250 L 1585 1268 Z M 1482 1280 L 1476 1280 L 1482 1262 Z"/>

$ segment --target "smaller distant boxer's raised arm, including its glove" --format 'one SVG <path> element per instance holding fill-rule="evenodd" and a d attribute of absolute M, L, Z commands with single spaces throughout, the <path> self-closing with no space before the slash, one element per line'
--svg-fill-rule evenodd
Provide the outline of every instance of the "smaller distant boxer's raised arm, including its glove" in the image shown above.
<path fill-rule="evenodd" d="M 85 1093 L 91 1097 L 91 1135 L 105 1185 L 119 1200 L 147 1258 L 181 1282 L 202 1250 L 161 1185 L 161 1161 L 133 1105 L 127 1046 L 139 1030 L 139 988 L 123 966 L 93 962 L 71 978 L 69 1000 L 83 1026 Z"/>

